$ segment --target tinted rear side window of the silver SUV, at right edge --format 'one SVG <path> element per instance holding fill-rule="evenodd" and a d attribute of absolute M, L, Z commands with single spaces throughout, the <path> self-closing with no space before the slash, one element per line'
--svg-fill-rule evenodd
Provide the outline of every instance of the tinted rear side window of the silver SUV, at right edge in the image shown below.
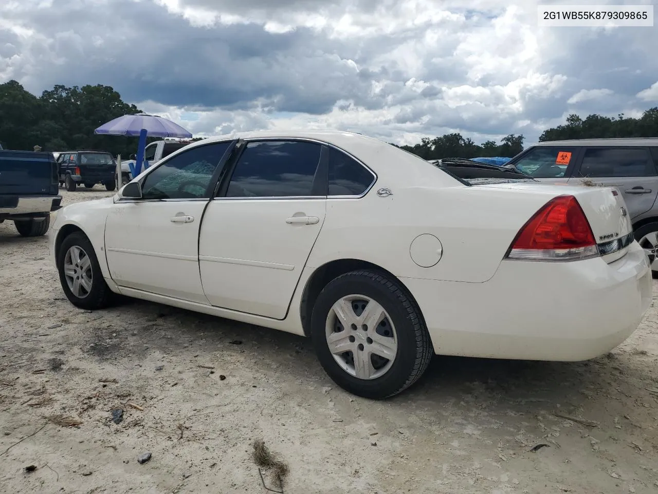
<path fill-rule="evenodd" d="M 588 148 L 580 165 L 581 177 L 648 177 L 656 175 L 648 150 Z"/>

